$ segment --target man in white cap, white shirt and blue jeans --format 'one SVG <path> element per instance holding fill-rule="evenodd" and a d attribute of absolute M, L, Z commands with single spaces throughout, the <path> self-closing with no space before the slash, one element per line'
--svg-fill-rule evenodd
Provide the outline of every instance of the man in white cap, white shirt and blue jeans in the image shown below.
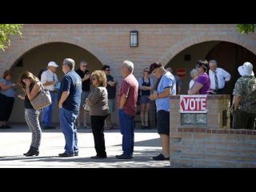
<path fill-rule="evenodd" d="M 50 61 L 48 63 L 48 70 L 44 71 L 41 75 L 41 82 L 44 85 L 45 90 L 49 90 L 52 98 L 52 104 L 48 107 L 43 108 L 42 111 L 42 124 L 43 129 L 55 129 L 55 127 L 51 126 L 52 124 L 52 111 L 55 105 L 55 94 L 57 93 L 55 89 L 55 85 L 58 82 L 58 77 L 56 75 L 57 71 L 57 63 L 54 61 Z"/>

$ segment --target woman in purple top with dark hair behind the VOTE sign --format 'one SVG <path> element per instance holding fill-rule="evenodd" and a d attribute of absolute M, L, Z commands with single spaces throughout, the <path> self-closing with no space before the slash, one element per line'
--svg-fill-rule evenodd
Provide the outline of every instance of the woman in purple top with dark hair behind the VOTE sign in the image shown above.
<path fill-rule="evenodd" d="M 206 73 L 209 70 L 208 62 L 206 60 L 199 60 L 196 63 L 196 69 L 199 77 L 196 83 L 188 90 L 188 94 L 209 94 L 211 81 Z"/>

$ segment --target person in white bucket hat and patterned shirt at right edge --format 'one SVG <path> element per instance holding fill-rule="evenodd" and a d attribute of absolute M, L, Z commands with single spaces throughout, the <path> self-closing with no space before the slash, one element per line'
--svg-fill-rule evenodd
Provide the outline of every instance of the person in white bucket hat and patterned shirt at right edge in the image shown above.
<path fill-rule="evenodd" d="M 237 79 L 233 90 L 233 129 L 254 129 L 256 118 L 256 78 L 250 62 L 238 67 L 242 76 Z"/>

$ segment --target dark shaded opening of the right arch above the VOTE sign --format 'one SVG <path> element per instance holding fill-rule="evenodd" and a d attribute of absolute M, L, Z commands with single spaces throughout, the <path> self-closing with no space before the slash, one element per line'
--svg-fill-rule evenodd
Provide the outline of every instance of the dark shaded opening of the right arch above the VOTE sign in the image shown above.
<path fill-rule="evenodd" d="M 191 79 L 189 73 L 195 68 L 195 63 L 199 59 L 208 61 L 215 59 L 218 61 L 218 67 L 231 74 L 230 82 L 225 87 L 230 94 L 239 77 L 237 67 L 243 65 L 245 61 L 251 62 L 256 67 L 256 55 L 241 45 L 223 41 L 209 41 L 191 45 L 175 55 L 166 64 L 166 66 L 172 67 L 173 74 L 180 76 L 182 81 L 181 94 L 187 94 Z M 185 71 L 185 73 L 180 73 L 180 71 Z"/>

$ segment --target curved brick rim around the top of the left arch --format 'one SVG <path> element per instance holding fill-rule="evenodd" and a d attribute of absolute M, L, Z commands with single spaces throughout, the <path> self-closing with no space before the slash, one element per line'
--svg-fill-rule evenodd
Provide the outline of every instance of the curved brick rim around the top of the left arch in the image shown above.
<path fill-rule="evenodd" d="M 100 60 L 103 65 L 105 63 L 108 63 L 108 65 L 113 70 L 113 75 L 115 75 L 115 65 L 114 60 L 111 59 L 111 57 L 105 53 L 100 47 L 96 47 L 90 42 L 90 39 L 84 39 L 84 38 L 77 38 L 72 37 L 68 35 L 60 35 L 58 33 L 55 34 L 47 34 L 38 38 L 33 38 L 26 43 L 20 43 L 21 46 L 19 49 L 14 49 L 12 52 L 7 54 L 7 58 L 5 59 L 5 68 L 9 69 L 12 67 L 13 63 L 17 61 L 22 55 L 24 55 L 26 52 L 30 51 L 34 47 L 37 47 L 39 45 L 43 45 L 46 43 L 54 43 L 54 42 L 61 42 L 61 43 L 68 43 L 73 44 L 76 46 L 81 47 L 82 49 L 89 51 L 91 54 L 93 54 L 97 59 Z M 18 42 L 19 43 L 19 42 Z"/>

